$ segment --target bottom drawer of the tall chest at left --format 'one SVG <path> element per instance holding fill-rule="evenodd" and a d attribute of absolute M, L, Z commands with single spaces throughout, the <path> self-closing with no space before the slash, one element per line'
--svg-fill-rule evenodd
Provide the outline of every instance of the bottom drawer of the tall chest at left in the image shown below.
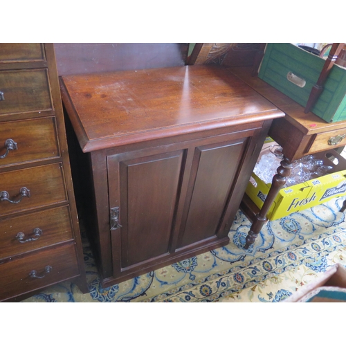
<path fill-rule="evenodd" d="M 51 267 L 51 271 L 45 271 L 47 266 Z M 36 271 L 35 275 L 33 271 Z M 74 244 L 35 252 L 0 264 L 0 300 L 67 280 L 78 273 Z"/>

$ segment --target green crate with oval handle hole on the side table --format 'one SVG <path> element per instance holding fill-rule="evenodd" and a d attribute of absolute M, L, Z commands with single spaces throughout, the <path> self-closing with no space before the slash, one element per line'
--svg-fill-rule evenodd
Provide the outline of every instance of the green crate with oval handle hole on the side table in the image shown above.
<path fill-rule="evenodd" d="M 324 64 L 321 57 L 293 44 L 267 44 L 258 77 L 305 107 Z M 289 73 L 304 86 L 289 81 Z M 311 111 L 327 122 L 346 120 L 345 94 L 346 69 L 334 64 Z"/>

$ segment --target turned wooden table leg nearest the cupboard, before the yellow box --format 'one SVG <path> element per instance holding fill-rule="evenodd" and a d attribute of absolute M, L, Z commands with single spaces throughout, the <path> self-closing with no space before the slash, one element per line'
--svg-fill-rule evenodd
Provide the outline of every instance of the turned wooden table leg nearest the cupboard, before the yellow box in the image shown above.
<path fill-rule="evenodd" d="M 253 221 L 253 224 L 251 225 L 251 228 L 248 231 L 248 235 L 246 236 L 246 244 L 244 245 L 244 248 L 248 248 L 251 244 L 255 242 L 257 235 L 260 233 L 263 225 L 267 221 L 266 214 L 268 213 L 269 208 L 271 208 L 271 205 L 275 197 L 277 196 L 277 193 L 286 183 L 287 176 L 291 174 L 291 168 L 291 161 L 289 161 L 288 158 L 284 157 L 284 159 L 280 163 L 280 166 L 277 168 L 277 174 L 273 176 L 273 183 L 271 184 L 271 188 L 268 192 L 268 196 L 264 201 L 262 209 L 256 215 L 255 221 Z"/>

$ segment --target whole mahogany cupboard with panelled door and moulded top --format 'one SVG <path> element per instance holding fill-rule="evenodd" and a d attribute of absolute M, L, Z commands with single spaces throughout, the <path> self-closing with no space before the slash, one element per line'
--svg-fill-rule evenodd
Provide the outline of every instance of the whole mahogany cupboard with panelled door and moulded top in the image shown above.
<path fill-rule="evenodd" d="M 282 111 L 219 66 L 60 82 L 84 152 L 76 182 L 84 182 L 86 217 L 94 212 L 91 242 L 103 286 L 229 242 L 264 138 Z"/>

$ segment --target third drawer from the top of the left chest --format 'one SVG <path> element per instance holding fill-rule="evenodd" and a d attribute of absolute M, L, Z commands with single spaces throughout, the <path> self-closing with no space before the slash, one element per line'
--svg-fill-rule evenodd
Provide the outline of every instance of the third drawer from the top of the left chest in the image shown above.
<path fill-rule="evenodd" d="M 0 123 L 0 167 L 59 156 L 55 117 Z"/>

